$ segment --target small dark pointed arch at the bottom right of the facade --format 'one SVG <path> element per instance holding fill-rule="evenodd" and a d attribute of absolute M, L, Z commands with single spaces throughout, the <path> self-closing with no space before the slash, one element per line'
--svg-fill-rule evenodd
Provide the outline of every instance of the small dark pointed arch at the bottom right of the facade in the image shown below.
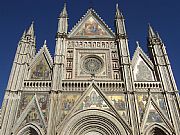
<path fill-rule="evenodd" d="M 145 135 L 171 135 L 171 131 L 167 127 L 160 124 L 152 124 L 147 127 Z"/>

